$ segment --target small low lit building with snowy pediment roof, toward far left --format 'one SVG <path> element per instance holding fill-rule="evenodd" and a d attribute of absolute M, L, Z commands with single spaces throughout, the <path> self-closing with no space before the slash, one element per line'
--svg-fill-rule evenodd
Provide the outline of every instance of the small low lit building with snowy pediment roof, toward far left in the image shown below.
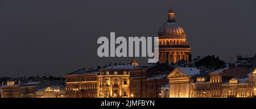
<path fill-rule="evenodd" d="M 48 86 L 36 90 L 36 98 L 64 98 L 65 86 Z"/>

